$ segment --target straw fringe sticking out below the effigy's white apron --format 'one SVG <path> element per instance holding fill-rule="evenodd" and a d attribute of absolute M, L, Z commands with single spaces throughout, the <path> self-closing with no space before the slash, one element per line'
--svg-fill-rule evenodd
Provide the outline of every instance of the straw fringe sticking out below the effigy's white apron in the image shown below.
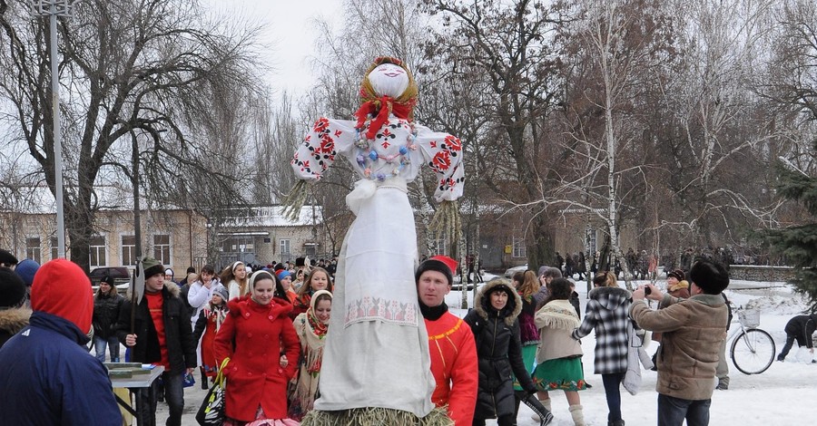
<path fill-rule="evenodd" d="M 343 411 L 310 411 L 301 426 L 454 426 L 445 407 L 435 408 L 422 419 L 414 413 L 367 407 Z"/>

